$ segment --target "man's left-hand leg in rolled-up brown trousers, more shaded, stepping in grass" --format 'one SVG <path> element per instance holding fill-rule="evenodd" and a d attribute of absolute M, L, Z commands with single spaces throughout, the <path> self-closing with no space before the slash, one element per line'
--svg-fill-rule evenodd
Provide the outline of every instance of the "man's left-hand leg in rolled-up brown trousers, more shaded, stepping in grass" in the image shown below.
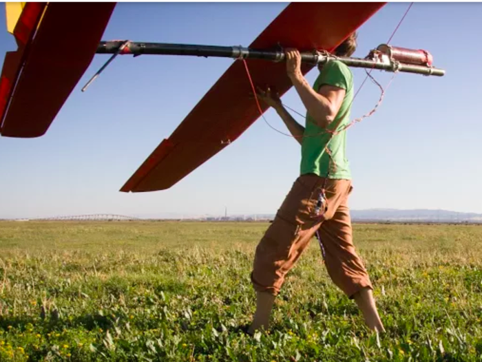
<path fill-rule="evenodd" d="M 317 189 L 322 181 L 323 179 L 316 175 L 302 175 L 297 178 L 277 211 L 275 220 L 256 247 L 251 281 L 257 292 L 257 304 L 249 328 L 251 334 L 259 328 L 269 328 L 271 309 L 284 283 L 284 277 L 293 268 L 319 227 L 311 211 L 315 207 Z"/>

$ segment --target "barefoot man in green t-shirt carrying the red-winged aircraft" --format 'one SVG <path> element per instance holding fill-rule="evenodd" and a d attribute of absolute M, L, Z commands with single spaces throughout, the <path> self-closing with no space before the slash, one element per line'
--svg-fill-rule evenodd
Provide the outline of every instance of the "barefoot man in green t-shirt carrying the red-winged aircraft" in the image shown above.
<path fill-rule="evenodd" d="M 351 56 L 356 36 L 350 35 L 334 54 Z M 348 195 L 353 187 L 345 154 L 346 131 L 334 133 L 350 122 L 353 74 L 344 63 L 329 61 L 319 67 L 312 88 L 300 65 L 300 53 L 286 50 L 287 74 L 307 110 L 306 127 L 291 117 L 269 88 L 266 92 L 258 89 L 258 96 L 277 111 L 300 142 L 302 160 L 300 177 L 256 248 L 251 281 L 257 306 L 248 332 L 269 328 L 271 309 L 284 278 L 315 233 L 322 244 L 328 275 L 348 298 L 355 299 L 368 328 L 384 332 L 373 286 L 352 242 Z"/>

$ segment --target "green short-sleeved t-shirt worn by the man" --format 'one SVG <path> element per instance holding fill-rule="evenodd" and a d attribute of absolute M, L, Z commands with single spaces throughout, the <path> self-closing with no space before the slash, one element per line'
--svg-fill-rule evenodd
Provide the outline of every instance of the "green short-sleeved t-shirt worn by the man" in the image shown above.
<path fill-rule="evenodd" d="M 346 90 L 346 94 L 335 120 L 328 126 L 333 130 L 339 123 L 340 117 L 343 117 L 337 129 L 341 129 L 350 122 L 350 107 L 353 100 L 353 74 L 350 69 L 341 61 L 329 61 L 326 63 L 319 73 L 318 78 L 313 85 L 313 89 L 317 92 L 319 87 L 328 84 L 340 87 Z M 346 114 L 345 114 L 346 112 Z M 328 175 L 328 167 L 330 164 L 330 156 L 326 153 L 326 142 L 331 134 L 323 128 L 318 127 L 311 116 L 306 114 L 306 125 L 304 130 L 304 138 L 302 142 L 302 162 L 301 174 L 315 173 L 321 177 Z M 333 136 L 328 145 L 333 156 L 335 168 L 331 168 L 328 178 L 347 179 L 350 180 L 351 173 L 348 160 L 346 158 L 346 131 Z"/>

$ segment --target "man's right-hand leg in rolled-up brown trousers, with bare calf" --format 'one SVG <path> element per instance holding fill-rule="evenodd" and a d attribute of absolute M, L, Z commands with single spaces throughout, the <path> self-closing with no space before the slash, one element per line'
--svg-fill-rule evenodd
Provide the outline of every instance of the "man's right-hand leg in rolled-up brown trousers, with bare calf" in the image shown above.
<path fill-rule="evenodd" d="M 319 228 L 319 236 L 325 249 L 325 265 L 333 282 L 350 299 L 355 299 L 362 310 L 368 328 L 384 332 L 368 272 L 353 246 L 353 234 L 348 209 L 348 195 L 339 204 L 333 215 L 328 216 Z M 329 206 L 328 206 L 329 207 Z"/>

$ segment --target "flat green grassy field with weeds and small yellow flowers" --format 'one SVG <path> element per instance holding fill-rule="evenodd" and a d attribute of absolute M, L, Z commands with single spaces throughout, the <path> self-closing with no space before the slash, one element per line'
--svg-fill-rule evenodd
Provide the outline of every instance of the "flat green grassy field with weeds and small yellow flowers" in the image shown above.
<path fill-rule="evenodd" d="M 0 222 L 0 361 L 482 361 L 482 226 L 354 226 L 379 339 L 316 239 L 271 330 L 238 330 L 267 226 Z"/>

